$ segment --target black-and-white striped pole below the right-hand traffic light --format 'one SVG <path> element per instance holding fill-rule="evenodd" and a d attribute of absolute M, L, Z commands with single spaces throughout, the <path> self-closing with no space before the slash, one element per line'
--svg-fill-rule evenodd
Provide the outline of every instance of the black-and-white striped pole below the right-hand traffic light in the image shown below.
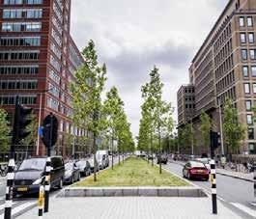
<path fill-rule="evenodd" d="M 214 159 L 211 160 L 210 164 L 211 164 L 213 214 L 217 214 L 216 170 L 215 170 Z"/>

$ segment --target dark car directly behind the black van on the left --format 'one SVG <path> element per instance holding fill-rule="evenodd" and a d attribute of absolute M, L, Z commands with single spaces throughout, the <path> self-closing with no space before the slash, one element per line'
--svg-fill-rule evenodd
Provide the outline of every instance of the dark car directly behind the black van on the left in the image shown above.
<path fill-rule="evenodd" d="M 80 180 L 80 170 L 74 162 L 65 164 L 64 182 L 72 184 L 74 181 Z"/>

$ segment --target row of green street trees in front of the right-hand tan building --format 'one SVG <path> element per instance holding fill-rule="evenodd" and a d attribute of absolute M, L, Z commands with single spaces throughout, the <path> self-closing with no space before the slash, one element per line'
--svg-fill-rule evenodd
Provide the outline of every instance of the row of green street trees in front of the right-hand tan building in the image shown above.
<path fill-rule="evenodd" d="M 256 108 L 253 109 L 253 111 L 255 112 L 254 114 L 256 114 Z M 230 99 L 227 99 L 224 103 L 222 128 L 224 145 L 226 146 L 225 148 L 229 150 L 226 152 L 240 153 L 240 143 L 245 138 L 246 127 L 240 123 L 238 110 Z M 209 152 L 210 130 L 215 130 L 216 124 L 213 123 L 213 120 L 205 111 L 202 111 L 201 113 L 198 129 L 201 135 L 201 147 L 199 147 L 199 141 L 194 137 L 195 125 L 192 125 L 192 123 L 185 123 L 185 125 L 179 129 L 177 136 L 178 144 L 180 146 L 178 150 L 179 152 L 185 153 L 190 151 L 192 145 L 198 154 Z"/>

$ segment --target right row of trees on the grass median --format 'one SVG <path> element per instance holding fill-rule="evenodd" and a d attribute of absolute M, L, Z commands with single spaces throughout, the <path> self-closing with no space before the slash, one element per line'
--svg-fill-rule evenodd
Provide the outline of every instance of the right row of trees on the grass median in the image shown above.
<path fill-rule="evenodd" d="M 162 149 L 162 139 L 169 136 L 173 131 L 173 108 L 170 103 L 162 99 L 163 83 L 160 80 L 158 68 L 150 72 L 150 82 L 141 88 L 143 103 L 141 105 L 141 115 L 139 125 L 139 135 L 137 137 L 139 151 L 147 153 L 156 152 L 160 155 Z M 153 160 L 152 160 L 153 165 Z M 161 164 L 159 165 L 161 174 Z"/>

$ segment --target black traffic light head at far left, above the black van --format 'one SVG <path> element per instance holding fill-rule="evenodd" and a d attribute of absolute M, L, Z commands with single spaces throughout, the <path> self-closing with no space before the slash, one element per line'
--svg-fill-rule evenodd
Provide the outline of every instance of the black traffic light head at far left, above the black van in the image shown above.
<path fill-rule="evenodd" d="M 13 130 L 13 143 L 18 145 L 20 141 L 26 138 L 30 131 L 27 131 L 27 126 L 32 122 L 30 119 L 30 114 L 33 108 L 29 108 L 19 104 L 18 100 L 15 104 L 15 114 L 14 114 L 14 130 Z"/>

